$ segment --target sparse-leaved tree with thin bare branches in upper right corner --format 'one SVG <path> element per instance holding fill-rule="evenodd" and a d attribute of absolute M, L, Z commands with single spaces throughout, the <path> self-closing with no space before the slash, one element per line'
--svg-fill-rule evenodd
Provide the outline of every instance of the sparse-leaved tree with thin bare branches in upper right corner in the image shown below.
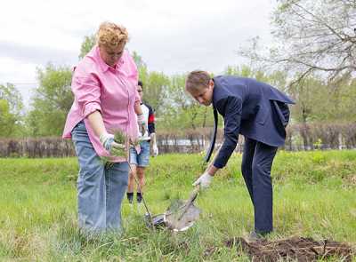
<path fill-rule="evenodd" d="M 278 0 L 272 24 L 277 46 L 270 54 L 258 50 L 256 37 L 243 56 L 299 73 L 293 83 L 315 73 L 332 80 L 355 71 L 356 1 Z"/>

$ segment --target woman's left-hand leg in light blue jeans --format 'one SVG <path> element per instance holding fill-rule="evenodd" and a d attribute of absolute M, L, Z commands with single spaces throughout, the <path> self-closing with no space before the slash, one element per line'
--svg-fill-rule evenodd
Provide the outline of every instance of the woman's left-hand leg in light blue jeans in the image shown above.
<path fill-rule="evenodd" d="M 77 204 L 79 227 L 89 232 L 106 228 L 104 166 L 89 140 L 85 123 L 78 123 L 72 140 L 79 163 Z"/>

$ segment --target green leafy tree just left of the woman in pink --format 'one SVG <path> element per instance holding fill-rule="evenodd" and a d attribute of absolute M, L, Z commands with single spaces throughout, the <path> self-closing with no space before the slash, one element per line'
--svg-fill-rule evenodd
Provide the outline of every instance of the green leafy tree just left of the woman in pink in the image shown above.
<path fill-rule="evenodd" d="M 44 70 L 37 70 L 39 86 L 27 118 L 30 136 L 61 135 L 73 103 L 71 77 L 69 67 L 54 67 L 49 64 Z"/>

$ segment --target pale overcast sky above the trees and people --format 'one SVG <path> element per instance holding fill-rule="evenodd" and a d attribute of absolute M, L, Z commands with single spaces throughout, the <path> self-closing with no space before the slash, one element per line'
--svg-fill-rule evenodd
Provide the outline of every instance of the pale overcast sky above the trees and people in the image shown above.
<path fill-rule="evenodd" d="M 102 4 L 99 4 L 102 3 Z M 0 83 L 14 83 L 28 107 L 36 68 L 72 67 L 85 36 L 102 21 L 127 28 L 130 52 L 166 75 L 204 69 L 221 74 L 244 62 L 241 46 L 271 43 L 275 0 L 12 0 L 0 12 Z"/>

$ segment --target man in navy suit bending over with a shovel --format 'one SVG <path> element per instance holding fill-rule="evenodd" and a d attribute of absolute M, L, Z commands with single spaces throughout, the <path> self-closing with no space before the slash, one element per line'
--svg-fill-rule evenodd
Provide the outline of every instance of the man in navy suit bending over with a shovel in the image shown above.
<path fill-rule="evenodd" d="M 214 108 L 214 136 L 206 162 L 214 149 L 217 113 L 223 115 L 224 140 L 214 163 L 193 186 L 208 187 L 214 174 L 223 168 L 234 151 L 239 134 L 245 137 L 241 171 L 255 210 L 252 238 L 271 233 L 271 165 L 277 149 L 284 145 L 289 121 L 286 94 L 255 79 L 221 75 L 211 78 L 205 71 L 191 72 L 186 91 L 200 104 Z"/>

